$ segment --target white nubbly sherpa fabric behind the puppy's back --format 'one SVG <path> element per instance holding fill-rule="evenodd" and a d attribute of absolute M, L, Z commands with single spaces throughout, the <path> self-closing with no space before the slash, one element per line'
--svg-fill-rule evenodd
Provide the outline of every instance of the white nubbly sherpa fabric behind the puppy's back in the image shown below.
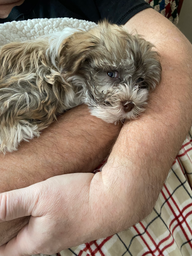
<path fill-rule="evenodd" d="M 0 24 L 0 45 L 35 39 L 39 36 L 62 31 L 66 27 L 79 28 L 88 31 L 95 27 L 95 25 L 94 22 L 73 18 L 33 19 L 7 22 Z M 38 254 L 36 256 L 48 255 Z M 56 256 L 56 254 L 52 256 Z"/>

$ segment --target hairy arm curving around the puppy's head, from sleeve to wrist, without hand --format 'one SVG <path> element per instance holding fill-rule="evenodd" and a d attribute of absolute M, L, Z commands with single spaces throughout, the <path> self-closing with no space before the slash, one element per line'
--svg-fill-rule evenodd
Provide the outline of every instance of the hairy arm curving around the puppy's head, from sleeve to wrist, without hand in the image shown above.
<path fill-rule="evenodd" d="M 162 82 L 150 95 L 146 112 L 124 124 L 102 173 L 91 182 L 91 191 L 97 189 L 97 197 L 105 207 L 103 210 L 100 206 L 106 214 L 103 228 L 109 231 L 106 226 L 110 226 L 113 233 L 132 226 L 152 211 L 192 124 L 189 41 L 153 9 L 135 15 L 126 28 L 136 28 L 138 34 L 156 45 L 161 55 Z M 99 209 L 99 205 L 96 203 L 95 208 Z M 108 214 L 116 221 L 110 222 Z"/>

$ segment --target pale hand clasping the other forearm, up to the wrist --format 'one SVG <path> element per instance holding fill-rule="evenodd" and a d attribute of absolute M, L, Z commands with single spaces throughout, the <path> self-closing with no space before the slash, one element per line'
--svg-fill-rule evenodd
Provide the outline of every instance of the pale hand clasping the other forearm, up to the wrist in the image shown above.
<path fill-rule="evenodd" d="M 94 214 L 94 200 L 89 198 L 93 176 L 65 174 L 1 193 L 0 222 L 31 218 L 15 238 L 0 247 L 0 255 L 54 254 L 98 238 L 101 223 Z"/>

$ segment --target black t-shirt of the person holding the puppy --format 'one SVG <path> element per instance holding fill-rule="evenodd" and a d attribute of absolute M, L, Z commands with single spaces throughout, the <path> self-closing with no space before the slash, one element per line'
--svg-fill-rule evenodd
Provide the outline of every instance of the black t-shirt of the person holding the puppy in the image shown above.
<path fill-rule="evenodd" d="M 25 0 L 0 23 L 37 18 L 76 18 L 98 22 L 104 18 L 125 24 L 133 15 L 150 8 L 145 0 Z"/>

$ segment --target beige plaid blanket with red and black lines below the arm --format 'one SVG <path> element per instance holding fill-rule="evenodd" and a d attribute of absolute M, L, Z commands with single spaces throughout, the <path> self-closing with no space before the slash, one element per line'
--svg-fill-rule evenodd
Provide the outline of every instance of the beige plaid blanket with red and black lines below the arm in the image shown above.
<path fill-rule="evenodd" d="M 127 231 L 57 254 L 89 255 L 192 255 L 192 129 L 173 162 L 157 203 L 147 219 Z"/>

